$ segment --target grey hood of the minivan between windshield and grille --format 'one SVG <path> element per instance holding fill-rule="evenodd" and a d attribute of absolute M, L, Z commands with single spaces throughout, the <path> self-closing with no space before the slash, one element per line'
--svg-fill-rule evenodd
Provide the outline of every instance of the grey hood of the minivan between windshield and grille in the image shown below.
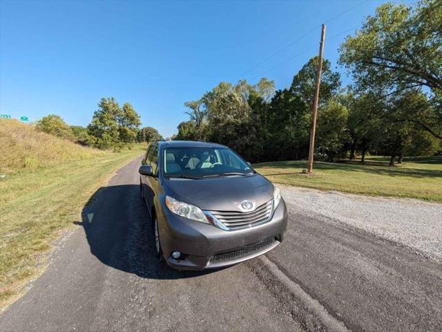
<path fill-rule="evenodd" d="M 223 176 L 199 180 L 170 178 L 167 186 L 174 199 L 198 206 L 201 210 L 245 212 L 242 201 L 251 201 L 253 208 L 273 199 L 273 185 L 264 176 Z"/>

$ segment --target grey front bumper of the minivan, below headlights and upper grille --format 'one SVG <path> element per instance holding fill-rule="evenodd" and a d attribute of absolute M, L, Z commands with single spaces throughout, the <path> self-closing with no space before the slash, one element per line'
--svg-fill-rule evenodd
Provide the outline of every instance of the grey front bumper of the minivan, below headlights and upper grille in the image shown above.
<path fill-rule="evenodd" d="M 270 221 L 241 230 L 221 230 L 171 213 L 158 216 L 163 256 L 179 270 L 221 268 L 262 255 L 281 243 L 286 225 L 284 200 Z M 172 258 L 174 251 L 182 253 L 180 259 Z"/>

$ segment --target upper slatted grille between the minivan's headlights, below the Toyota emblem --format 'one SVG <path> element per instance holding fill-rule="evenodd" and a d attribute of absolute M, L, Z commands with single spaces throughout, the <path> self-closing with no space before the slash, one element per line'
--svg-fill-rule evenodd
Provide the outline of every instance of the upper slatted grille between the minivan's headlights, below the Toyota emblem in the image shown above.
<path fill-rule="evenodd" d="M 273 200 L 259 205 L 251 212 L 210 211 L 212 215 L 230 229 L 241 228 L 253 223 L 268 221 L 272 213 Z"/>

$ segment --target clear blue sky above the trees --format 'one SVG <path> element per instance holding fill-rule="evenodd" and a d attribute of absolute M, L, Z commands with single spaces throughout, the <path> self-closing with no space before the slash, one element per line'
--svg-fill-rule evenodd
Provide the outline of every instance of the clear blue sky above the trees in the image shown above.
<path fill-rule="evenodd" d="M 383 2 L 0 0 L 0 113 L 85 126 L 113 96 L 170 136 L 187 120 L 183 103 L 221 81 L 290 85 L 317 54 L 323 22 L 335 64 L 344 37 Z"/>

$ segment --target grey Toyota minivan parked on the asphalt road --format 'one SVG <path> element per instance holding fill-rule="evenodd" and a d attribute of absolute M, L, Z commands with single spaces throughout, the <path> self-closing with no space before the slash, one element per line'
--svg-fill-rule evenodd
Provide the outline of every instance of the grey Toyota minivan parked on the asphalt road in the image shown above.
<path fill-rule="evenodd" d="M 139 173 L 156 255 L 172 268 L 230 266 L 272 250 L 284 237 L 279 189 L 228 147 L 154 142 Z"/>

